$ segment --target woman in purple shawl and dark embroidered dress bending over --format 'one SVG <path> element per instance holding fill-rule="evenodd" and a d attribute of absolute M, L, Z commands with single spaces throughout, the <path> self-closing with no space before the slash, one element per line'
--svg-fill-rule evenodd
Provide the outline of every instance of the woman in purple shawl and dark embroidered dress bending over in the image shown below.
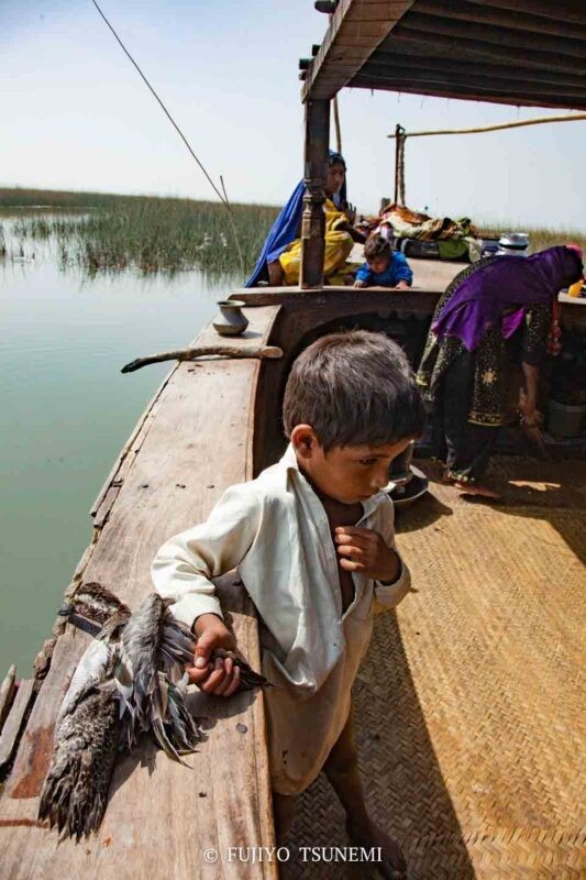
<path fill-rule="evenodd" d="M 508 365 L 511 358 L 521 364 L 521 417 L 534 426 L 548 341 L 559 348 L 557 294 L 583 274 L 577 245 L 549 248 L 480 260 L 442 295 L 417 381 L 433 405 L 435 453 L 457 488 L 498 497 L 478 481 L 504 424 Z"/>

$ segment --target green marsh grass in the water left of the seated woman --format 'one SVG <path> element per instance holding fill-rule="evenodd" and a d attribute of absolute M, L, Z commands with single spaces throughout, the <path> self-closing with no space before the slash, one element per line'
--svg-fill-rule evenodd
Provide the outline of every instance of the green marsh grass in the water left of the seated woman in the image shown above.
<path fill-rule="evenodd" d="M 234 244 L 225 208 L 217 202 L 96 193 L 1 190 L 1 208 L 44 208 L 51 215 L 16 218 L 12 238 L 51 240 L 64 265 L 90 273 L 137 268 L 143 273 L 200 268 L 208 274 L 248 274 L 278 208 L 233 205 L 244 256 Z M 64 216 L 55 215 L 62 209 Z M 0 241 L 1 245 L 1 241 Z M 243 278 L 244 279 L 244 278 Z"/>

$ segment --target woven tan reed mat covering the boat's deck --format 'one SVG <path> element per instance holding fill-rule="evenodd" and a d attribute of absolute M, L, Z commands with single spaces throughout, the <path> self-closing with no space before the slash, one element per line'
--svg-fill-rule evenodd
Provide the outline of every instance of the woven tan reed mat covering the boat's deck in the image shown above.
<path fill-rule="evenodd" d="M 489 476 L 499 506 L 431 484 L 399 516 L 416 592 L 377 615 L 355 686 L 366 799 L 410 880 L 577 879 L 586 462 L 500 459 Z M 299 857 L 347 845 L 323 774 L 286 843 L 284 880 L 378 876 Z"/>

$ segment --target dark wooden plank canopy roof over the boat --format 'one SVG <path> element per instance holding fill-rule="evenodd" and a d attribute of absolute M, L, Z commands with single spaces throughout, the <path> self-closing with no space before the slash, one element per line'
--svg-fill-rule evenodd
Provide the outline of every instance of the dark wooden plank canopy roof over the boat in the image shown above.
<path fill-rule="evenodd" d="M 586 110 L 586 2 L 340 0 L 305 67 L 303 101 L 347 86 Z"/>

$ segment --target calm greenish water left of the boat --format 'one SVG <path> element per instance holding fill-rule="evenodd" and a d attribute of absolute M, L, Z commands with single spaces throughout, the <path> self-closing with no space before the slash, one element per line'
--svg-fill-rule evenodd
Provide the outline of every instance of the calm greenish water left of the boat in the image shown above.
<path fill-rule="evenodd" d="M 0 680 L 12 662 L 30 676 L 88 510 L 169 364 L 120 367 L 187 346 L 234 286 L 198 272 L 89 280 L 27 248 L 34 262 L 0 260 Z"/>

